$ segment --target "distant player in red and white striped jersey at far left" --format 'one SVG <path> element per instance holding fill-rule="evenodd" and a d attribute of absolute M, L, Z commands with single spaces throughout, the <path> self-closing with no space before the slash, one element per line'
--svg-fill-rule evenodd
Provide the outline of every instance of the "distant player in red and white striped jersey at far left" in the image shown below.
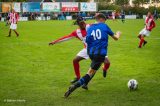
<path fill-rule="evenodd" d="M 9 22 L 11 23 L 10 29 L 9 29 L 9 35 L 7 37 L 11 37 L 11 31 L 13 30 L 17 37 L 19 36 L 18 32 L 16 31 L 17 29 L 17 22 L 18 22 L 18 14 L 15 12 L 13 9 L 12 12 L 9 15 L 10 19 Z"/>

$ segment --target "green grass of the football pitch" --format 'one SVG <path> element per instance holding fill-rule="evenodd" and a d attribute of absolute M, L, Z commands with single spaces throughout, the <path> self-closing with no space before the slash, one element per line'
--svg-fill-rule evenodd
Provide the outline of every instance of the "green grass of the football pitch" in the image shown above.
<path fill-rule="evenodd" d="M 87 21 L 92 23 L 94 21 Z M 107 21 L 113 31 L 122 31 L 119 41 L 109 39 L 111 67 L 107 78 L 99 70 L 89 90 L 76 90 L 68 99 L 63 95 L 74 78 L 72 59 L 83 48 L 77 39 L 48 46 L 48 43 L 76 29 L 72 21 L 19 22 L 17 38 L 8 35 L 0 23 L 0 106 L 160 106 L 160 22 L 139 49 L 138 32 L 144 20 Z M 81 62 L 84 75 L 90 60 Z M 129 79 L 139 82 L 130 92 Z M 26 102 L 4 102 L 24 99 Z"/>

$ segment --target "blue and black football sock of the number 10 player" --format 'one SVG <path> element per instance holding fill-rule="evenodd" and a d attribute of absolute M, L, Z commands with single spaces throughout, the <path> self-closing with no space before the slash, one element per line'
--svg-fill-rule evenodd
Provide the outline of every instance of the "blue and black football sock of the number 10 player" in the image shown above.
<path fill-rule="evenodd" d="M 91 77 L 88 74 L 86 74 L 79 81 L 77 81 L 74 85 L 76 87 L 80 87 L 81 85 L 88 83 L 90 81 L 90 79 L 91 79 Z"/>

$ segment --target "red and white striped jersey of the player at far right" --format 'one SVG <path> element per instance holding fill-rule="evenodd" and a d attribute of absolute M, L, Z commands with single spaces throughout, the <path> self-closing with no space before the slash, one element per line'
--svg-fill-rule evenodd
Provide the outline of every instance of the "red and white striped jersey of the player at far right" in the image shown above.
<path fill-rule="evenodd" d="M 152 29 L 155 27 L 155 22 L 153 17 L 146 17 L 145 19 L 145 28 L 149 31 L 152 31 Z"/>

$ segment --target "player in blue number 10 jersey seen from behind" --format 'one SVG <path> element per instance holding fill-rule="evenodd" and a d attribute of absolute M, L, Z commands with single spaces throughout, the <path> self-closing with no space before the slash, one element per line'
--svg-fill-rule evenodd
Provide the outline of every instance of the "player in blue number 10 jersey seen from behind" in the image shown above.
<path fill-rule="evenodd" d="M 92 24 L 87 30 L 86 37 L 87 52 L 92 61 L 90 69 L 86 75 L 69 87 L 68 91 L 64 94 L 65 98 L 67 98 L 75 89 L 88 83 L 100 68 L 101 64 L 105 61 L 105 56 L 107 55 L 108 35 L 114 40 L 118 40 L 120 37 L 120 32 L 117 32 L 114 35 L 108 25 L 105 24 L 106 17 L 104 14 L 99 13 L 96 16 L 96 20 L 97 23 Z"/>

